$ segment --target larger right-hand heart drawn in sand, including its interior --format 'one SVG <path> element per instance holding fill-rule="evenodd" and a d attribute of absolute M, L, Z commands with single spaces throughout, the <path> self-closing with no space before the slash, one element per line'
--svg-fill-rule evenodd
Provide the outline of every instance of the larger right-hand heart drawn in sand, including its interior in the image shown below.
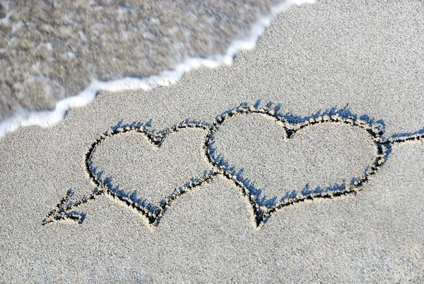
<path fill-rule="evenodd" d="M 285 205 L 357 191 L 387 157 L 382 127 L 346 108 L 300 118 L 240 106 L 216 119 L 206 144 L 260 226 Z"/>

